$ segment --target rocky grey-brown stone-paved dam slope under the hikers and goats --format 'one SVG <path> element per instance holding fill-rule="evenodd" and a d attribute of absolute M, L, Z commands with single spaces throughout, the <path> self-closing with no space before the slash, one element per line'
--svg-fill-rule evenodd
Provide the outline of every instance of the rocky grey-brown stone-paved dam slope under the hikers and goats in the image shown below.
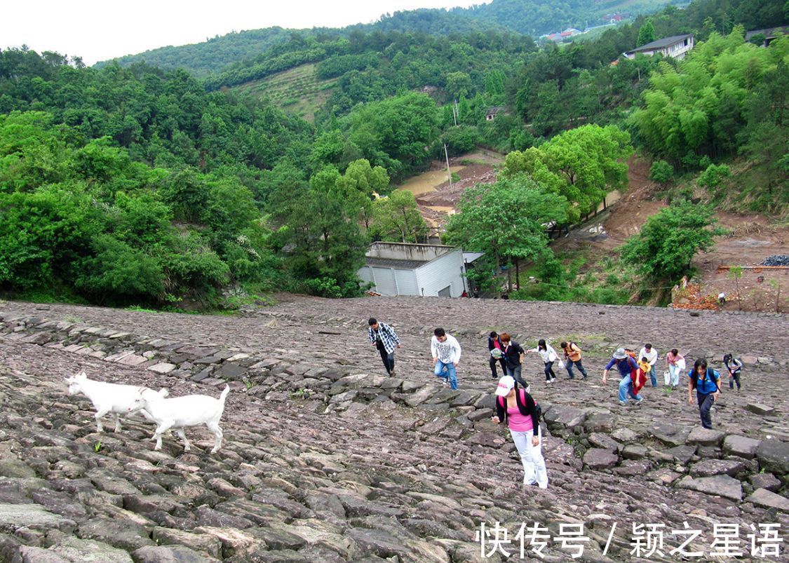
<path fill-rule="evenodd" d="M 371 315 L 402 339 L 394 377 L 367 341 Z M 436 326 L 463 347 L 457 391 L 432 375 Z M 526 359 L 547 490 L 522 486 L 490 421 L 492 329 L 585 351 L 589 379 L 555 369 L 553 386 Z M 667 349 L 719 370 L 725 352 L 742 358 L 742 390 L 724 387 L 714 430 L 688 405 L 686 377 L 624 407 L 619 378 L 602 384 L 614 349 L 648 341 L 659 380 Z M 688 561 L 724 548 L 786 561 L 787 347 L 789 320 L 768 314 L 438 298 L 286 297 L 243 317 L 2 303 L 0 561 Z M 194 427 L 190 452 L 175 434 L 154 451 L 154 426 L 137 417 L 97 433 L 63 381 L 80 370 L 170 396 L 229 384 L 222 449 L 211 455 L 212 434 Z"/>

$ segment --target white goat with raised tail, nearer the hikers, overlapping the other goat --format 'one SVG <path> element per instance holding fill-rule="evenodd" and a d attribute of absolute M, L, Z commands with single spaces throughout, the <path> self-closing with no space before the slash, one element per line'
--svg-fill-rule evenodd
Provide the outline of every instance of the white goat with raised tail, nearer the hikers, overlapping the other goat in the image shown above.
<path fill-rule="evenodd" d="M 154 391 L 142 388 L 129 412 L 143 409 L 155 420 L 157 426 L 153 434 L 156 440 L 154 449 L 162 449 L 162 434 L 174 428 L 178 437 L 184 441 L 184 450 L 188 452 L 191 446 L 184 434 L 184 428 L 205 424 L 216 438 L 214 449 L 211 449 L 211 453 L 216 453 L 222 447 L 222 428 L 219 427 L 219 419 L 225 411 L 227 393 L 230 393 L 230 386 L 225 386 L 219 399 L 208 395 L 186 395 L 166 399 L 164 398 L 166 389 Z"/>

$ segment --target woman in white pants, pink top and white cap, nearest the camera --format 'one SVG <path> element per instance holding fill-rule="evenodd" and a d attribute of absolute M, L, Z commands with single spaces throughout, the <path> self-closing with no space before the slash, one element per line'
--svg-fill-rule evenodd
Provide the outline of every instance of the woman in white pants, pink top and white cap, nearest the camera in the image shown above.
<path fill-rule="evenodd" d="M 519 389 L 510 375 L 499 379 L 495 394 L 496 416 L 492 420 L 496 424 L 506 420 L 510 427 L 512 441 L 521 454 L 523 484 L 547 489 L 548 469 L 542 457 L 542 434 L 534 399 L 526 390 Z"/>

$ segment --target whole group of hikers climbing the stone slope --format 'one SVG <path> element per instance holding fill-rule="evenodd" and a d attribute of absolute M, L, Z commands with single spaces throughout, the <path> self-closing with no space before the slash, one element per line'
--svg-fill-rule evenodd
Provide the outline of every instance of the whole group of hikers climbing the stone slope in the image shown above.
<path fill-rule="evenodd" d="M 377 319 L 369 319 L 368 337 L 370 343 L 379 350 L 383 367 L 388 375 L 394 375 L 394 350 L 401 347 L 400 339 L 394 329 Z M 510 334 L 498 334 L 495 331 L 488 335 L 488 364 L 491 378 L 498 379 L 495 390 L 495 416 L 492 421 L 496 424 L 506 423 L 510 436 L 518 449 L 524 470 L 524 485 L 537 485 L 540 488 L 548 487 L 548 471 L 542 455 L 542 433 L 540 431 L 541 408 L 529 393 L 531 388 L 522 375 L 523 360 L 527 354 L 537 353 L 544 363 L 545 384 L 552 385 L 556 380 L 553 371 L 554 364 L 558 361 L 561 367 L 567 370 L 567 378 L 574 379 L 573 368 L 578 368 L 581 376 L 586 379 L 588 374 L 581 364 L 581 348 L 571 341 L 563 341 L 559 345 L 563 358 L 552 345 L 540 339 L 537 347 L 524 349 L 514 341 Z M 436 328 L 430 342 L 432 354 L 433 374 L 443 379 L 444 385 L 451 389 L 458 389 L 458 363 L 460 362 L 461 348 L 457 338 L 443 328 Z M 634 350 L 619 348 L 611 356 L 611 360 L 604 367 L 603 384 L 608 382 L 608 373 L 614 368 L 619 371 L 619 405 L 627 405 L 630 397 L 638 405 L 644 400 L 641 389 L 646 385 L 647 378 L 653 387 L 657 386 L 656 364 L 659 359 L 655 347 L 646 343 L 636 353 Z M 666 370 L 664 371 L 664 384 L 676 389 L 679 386 L 679 376 L 686 370 L 686 360 L 679 350 L 672 349 L 664 358 Z M 740 390 L 740 374 L 742 362 L 735 359 L 731 353 L 723 358 L 724 366 L 729 375 L 729 388 Z M 498 368 L 502 376 L 499 377 Z M 720 373 L 707 365 L 707 360 L 700 358 L 695 361 L 693 369 L 688 375 L 688 402 L 693 404 L 693 392 L 696 391 L 696 401 L 701 417 L 701 426 L 712 428 L 712 415 L 710 410 L 720 396 Z"/>

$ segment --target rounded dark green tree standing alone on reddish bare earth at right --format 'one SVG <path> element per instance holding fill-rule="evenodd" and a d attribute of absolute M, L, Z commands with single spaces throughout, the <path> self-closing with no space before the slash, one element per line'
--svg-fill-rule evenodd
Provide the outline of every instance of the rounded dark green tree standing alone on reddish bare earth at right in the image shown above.
<path fill-rule="evenodd" d="M 722 230 L 709 207 L 681 201 L 647 219 L 641 232 L 628 238 L 622 258 L 641 274 L 675 283 L 689 274 L 697 252 L 707 252 Z"/>

